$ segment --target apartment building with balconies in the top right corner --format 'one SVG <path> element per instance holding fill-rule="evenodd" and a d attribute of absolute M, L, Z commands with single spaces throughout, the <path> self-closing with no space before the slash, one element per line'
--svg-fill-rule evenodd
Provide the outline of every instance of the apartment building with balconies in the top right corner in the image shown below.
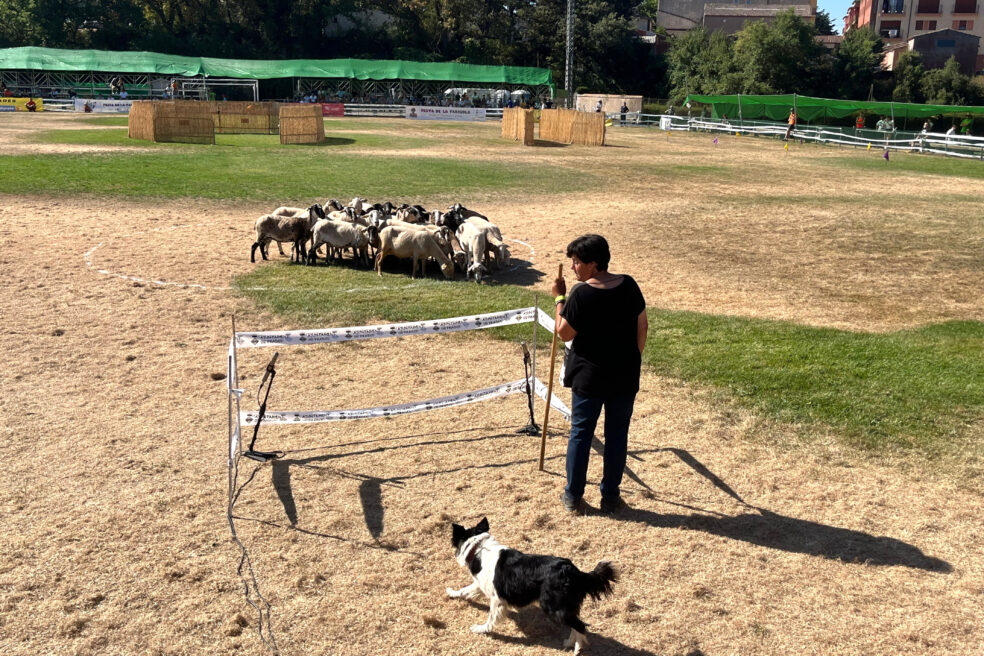
<path fill-rule="evenodd" d="M 900 46 L 913 43 L 915 37 L 940 30 L 982 37 L 984 16 L 979 15 L 980 10 L 978 0 L 854 0 L 844 16 L 844 31 L 870 27 L 885 40 L 886 50 L 898 51 Z M 955 43 L 962 46 L 965 41 L 957 35 L 956 38 L 919 39 L 917 43 L 925 58 L 927 53 L 932 53 L 933 43 L 939 42 L 940 49 L 947 50 Z M 930 56 L 930 59 L 938 58 Z M 984 53 L 978 50 L 974 64 L 961 63 L 961 67 L 972 69 L 967 71 L 969 74 L 984 70 Z"/>

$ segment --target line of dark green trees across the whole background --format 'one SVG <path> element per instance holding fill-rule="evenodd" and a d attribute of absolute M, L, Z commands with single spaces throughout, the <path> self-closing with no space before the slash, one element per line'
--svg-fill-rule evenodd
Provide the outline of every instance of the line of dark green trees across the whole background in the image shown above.
<path fill-rule="evenodd" d="M 955 61 L 925 70 L 907 53 L 893 74 L 879 74 L 883 43 L 870 30 L 848 32 L 830 52 L 816 39 L 833 33 L 824 12 L 812 23 L 790 10 L 733 36 L 697 28 L 655 54 L 637 37 L 633 17 L 657 8 L 658 0 L 578 0 L 576 90 L 677 100 L 688 93 L 946 104 L 984 97 Z M 567 0 L 0 0 L 0 47 L 538 66 L 560 88 L 566 9 Z"/>

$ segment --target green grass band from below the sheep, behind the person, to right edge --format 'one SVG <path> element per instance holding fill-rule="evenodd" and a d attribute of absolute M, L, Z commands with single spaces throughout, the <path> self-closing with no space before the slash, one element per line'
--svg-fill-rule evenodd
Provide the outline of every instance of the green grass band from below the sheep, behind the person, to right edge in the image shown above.
<path fill-rule="evenodd" d="M 387 268 L 399 265 L 389 260 Z M 407 267 L 408 269 L 408 267 Z M 347 267 L 257 266 L 239 293 L 299 325 L 418 321 L 532 304 L 513 285 L 411 280 Z M 552 311 L 541 295 L 541 307 Z M 650 310 L 645 363 L 720 392 L 761 416 L 832 430 L 869 450 L 937 455 L 984 421 L 984 323 L 948 322 L 889 334 Z M 495 329 L 528 340 L 528 325 Z M 541 331 L 541 344 L 549 337 Z"/>

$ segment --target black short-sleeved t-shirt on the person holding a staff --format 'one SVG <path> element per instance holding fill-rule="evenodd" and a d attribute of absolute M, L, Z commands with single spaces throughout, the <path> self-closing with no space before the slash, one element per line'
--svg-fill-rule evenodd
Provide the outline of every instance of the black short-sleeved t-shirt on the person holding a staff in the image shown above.
<path fill-rule="evenodd" d="M 577 331 L 564 386 L 580 396 L 606 398 L 639 391 L 639 315 L 646 309 L 631 276 L 610 289 L 575 286 L 561 315 Z"/>

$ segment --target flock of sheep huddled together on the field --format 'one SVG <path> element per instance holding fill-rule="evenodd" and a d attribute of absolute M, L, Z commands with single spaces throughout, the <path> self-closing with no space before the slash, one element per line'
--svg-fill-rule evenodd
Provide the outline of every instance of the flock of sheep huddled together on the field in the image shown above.
<path fill-rule="evenodd" d="M 428 260 L 436 260 L 445 278 L 453 279 L 455 269 L 467 278 L 481 282 L 482 276 L 509 265 L 509 248 L 499 227 L 487 217 L 459 203 L 446 211 L 428 212 L 420 205 L 375 203 L 353 198 L 348 205 L 335 199 L 311 207 L 278 207 L 256 220 L 256 241 L 250 261 L 256 261 L 256 249 L 267 258 L 270 242 L 291 244 L 291 261 L 316 264 L 318 251 L 325 247 L 325 262 L 341 261 L 351 249 L 352 258 L 369 266 L 375 260 L 376 272 L 382 276 L 387 255 L 413 260 L 410 276 L 425 273 Z M 310 242 L 310 245 L 309 245 Z"/>

